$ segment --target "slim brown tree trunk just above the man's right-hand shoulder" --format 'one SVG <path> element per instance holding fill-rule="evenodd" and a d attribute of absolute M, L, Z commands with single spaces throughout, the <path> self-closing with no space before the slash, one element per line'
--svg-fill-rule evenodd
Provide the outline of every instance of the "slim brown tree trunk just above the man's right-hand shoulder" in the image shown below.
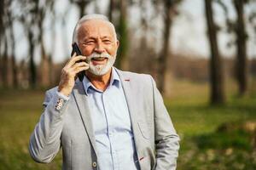
<path fill-rule="evenodd" d="M 165 1 L 165 16 L 164 16 L 164 32 L 163 32 L 163 48 L 160 52 L 158 59 L 158 74 L 157 82 L 160 93 L 164 93 L 165 89 L 165 77 L 167 68 L 167 58 L 169 56 L 169 42 L 170 42 L 170 29 L 172 27 L 172 2 Z"/>

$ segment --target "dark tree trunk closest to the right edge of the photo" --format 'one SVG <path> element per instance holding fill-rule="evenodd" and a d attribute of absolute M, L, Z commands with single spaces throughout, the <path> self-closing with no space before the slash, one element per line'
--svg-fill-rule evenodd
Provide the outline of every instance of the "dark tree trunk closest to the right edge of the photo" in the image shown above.
<path fill-rule="evenodd" d="M 244 1 L 234 0 L 236 8 L 236 79 L 239 85 L 239 94 L 243 95 L 247 91 L 247 33 L 243 18 Z"/>

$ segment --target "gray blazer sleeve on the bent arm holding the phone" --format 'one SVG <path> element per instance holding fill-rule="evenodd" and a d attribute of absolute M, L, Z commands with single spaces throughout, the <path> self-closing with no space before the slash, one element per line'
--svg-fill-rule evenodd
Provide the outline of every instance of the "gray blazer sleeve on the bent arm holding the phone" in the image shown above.
<path fill-rule="evenodd" d="M 46 92 L 44 112 L 29 141 L 29 152 L 34 161 L 49 163 L 60 150 L 63 113 L 67 102 L 68 99 L 56 90 Z"/>

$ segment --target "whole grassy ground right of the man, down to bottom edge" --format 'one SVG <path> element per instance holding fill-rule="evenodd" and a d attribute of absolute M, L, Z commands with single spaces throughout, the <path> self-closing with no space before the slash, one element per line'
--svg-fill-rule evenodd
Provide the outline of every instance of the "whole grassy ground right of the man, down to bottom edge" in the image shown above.
<path fill-rule="evenodd" d="M 220 133 L 224 123 L 256 122 L 256 83 L 244 97 L 238 97 L 234 82 L 226 82 L 226 104 L 209 105 L 206 84 L 176 82 L 166 106 L 181 137 L 177 169 L 256 169 L 253 137 L 243 132 Z M 250 150 L 247 150 L 250 148 Z"/>

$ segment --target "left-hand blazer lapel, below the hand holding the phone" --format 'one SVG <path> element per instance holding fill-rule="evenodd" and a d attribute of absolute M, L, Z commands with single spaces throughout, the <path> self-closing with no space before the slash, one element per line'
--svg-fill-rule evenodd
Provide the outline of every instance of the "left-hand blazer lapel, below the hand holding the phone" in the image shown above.
<path fill-rule="evenodd" d="M 94 130 L 91 124 L 90 108 L 88 105 L 88 96 L 85 94 L 83 83 L 79 82 L 79 79 L 76 81 L 76 84 L 73 88 L 73 95 L 79 107 L 79 113 L 84 123 L 86 133 L 90 139 L 90 144 L 92 145 L 93 149 L 96 152 L 96 139 L 95 139 Z"/>

